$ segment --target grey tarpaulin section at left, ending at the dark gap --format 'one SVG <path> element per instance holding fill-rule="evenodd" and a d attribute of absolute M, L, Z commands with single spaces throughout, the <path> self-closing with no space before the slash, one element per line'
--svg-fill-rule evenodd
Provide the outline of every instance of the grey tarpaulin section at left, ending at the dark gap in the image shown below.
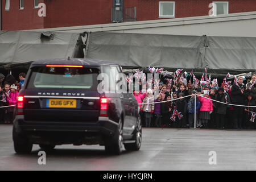
<path fill-rule="evenodd" d="M 0 65 L 6 68 L 40 59 L 83 57 L 77 33 L 0 31 Z"/>

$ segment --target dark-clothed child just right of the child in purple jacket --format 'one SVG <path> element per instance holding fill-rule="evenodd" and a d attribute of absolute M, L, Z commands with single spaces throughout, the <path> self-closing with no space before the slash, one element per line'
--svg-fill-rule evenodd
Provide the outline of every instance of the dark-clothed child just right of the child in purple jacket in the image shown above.
<path fill-rule="evenodd" d="M 163 121 L 163 127 L 170 127 L 171 126 L 171 110 L 172 110 L 172 102 L 170 94 L 166 94 L 164 97 L 164 101 L 169 102 L 162 102 L 161 103 L 161 114 L 162 114 L 162 121 Z"/>

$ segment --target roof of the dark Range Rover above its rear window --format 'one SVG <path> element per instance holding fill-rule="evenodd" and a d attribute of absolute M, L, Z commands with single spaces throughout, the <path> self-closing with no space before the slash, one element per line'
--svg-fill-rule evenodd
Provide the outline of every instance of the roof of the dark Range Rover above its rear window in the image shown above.
<path fill-rule="evenodd" d="M 80 59 L 80 58 L 68 58 L 68 59 L 47 59 L 34 61 L 31 67 L 45 66 L 45 65 L 83 65 L 100 67 L 104 65 L 118 65 L 108 60 L 97 60 L 97 59 Z"/>

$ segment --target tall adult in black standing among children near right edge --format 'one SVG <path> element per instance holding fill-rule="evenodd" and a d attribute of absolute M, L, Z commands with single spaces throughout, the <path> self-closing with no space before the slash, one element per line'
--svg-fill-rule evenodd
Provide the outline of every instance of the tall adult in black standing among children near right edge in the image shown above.
<path fill-rule="evenodd" d="M 231 89 L 232 104 L 243 105 L 245 97 L 245 85 L 243 84 L 243 77 L 238 77 L 234 80 Z M 234 106 L 234 129 L 242 129 L 243 121 L 243 107 Z"/>

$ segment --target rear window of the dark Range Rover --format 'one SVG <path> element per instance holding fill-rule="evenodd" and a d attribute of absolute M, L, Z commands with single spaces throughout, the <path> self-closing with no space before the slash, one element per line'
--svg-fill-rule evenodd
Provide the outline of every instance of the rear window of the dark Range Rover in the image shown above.
<path fill-rule="evenodd" d="M 88 89 L 97 90 L 96 68 L 35 67 L 32 68 L 28 89 Z"/>

